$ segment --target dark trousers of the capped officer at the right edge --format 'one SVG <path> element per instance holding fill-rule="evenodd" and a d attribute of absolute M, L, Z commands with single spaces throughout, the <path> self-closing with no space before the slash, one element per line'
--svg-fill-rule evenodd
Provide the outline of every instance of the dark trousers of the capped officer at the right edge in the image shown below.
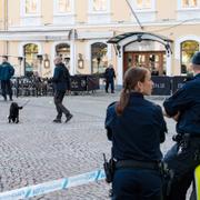
<path fill-rule="evenodd" d="M 193 170 L 200 163 L 200 139 L 190 139 L 187 148 L 178 150 L 178 144 L 174 144 L 163 159 L 174 173 L 170 193 L 164 200 L 186 200 Z"/>

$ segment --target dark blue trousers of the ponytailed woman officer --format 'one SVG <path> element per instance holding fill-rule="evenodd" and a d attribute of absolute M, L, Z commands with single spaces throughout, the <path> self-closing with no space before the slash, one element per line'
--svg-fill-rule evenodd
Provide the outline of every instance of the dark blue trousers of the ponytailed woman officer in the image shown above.
<path fill-rule="evenodd" d="M 160 172 L 147 169 L 120 169 L 114 172 L 112 200 L 162 200 Z"/>

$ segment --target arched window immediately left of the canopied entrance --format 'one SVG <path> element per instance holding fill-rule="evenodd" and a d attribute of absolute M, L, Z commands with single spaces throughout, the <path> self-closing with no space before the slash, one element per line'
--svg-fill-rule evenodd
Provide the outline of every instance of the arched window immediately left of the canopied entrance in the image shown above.
<path fill-rule="evenodd" d="M 103 73 L 108 66 L 108 47 L 106 43 L 91 44 L 91 73 Z"/>

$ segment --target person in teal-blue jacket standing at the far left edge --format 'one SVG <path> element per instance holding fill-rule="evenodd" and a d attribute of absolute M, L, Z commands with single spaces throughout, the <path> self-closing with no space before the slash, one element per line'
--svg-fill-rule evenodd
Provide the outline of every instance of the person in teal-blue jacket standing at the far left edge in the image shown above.
<path fill-rule="evenodd" d="M 0 66 L 0 80 L 1 80 L 1 90 L 4 101 L 7 101 L 7 92 L 9 94 L 10 101 L 12 101 L 12 82 L 10 81 L 11 77 L 14 74 L 13 67 L 8 62 L 8 57 L 2 57 L 2 63 Z"/>

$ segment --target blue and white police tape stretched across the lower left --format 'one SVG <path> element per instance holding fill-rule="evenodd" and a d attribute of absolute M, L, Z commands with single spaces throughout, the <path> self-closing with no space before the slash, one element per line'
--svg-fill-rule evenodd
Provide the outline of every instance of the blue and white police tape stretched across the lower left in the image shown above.
<path fill-rule="evenodd" d="M 2 192 L 0 193 L 0 200 L 27 199 L 71 187 L 87 184 L 89 182 L 94 182 L 104 178 L 106 176 L 103 170 L 91 171 L 74 177 L 63 178 L 36 186 Z"/>

